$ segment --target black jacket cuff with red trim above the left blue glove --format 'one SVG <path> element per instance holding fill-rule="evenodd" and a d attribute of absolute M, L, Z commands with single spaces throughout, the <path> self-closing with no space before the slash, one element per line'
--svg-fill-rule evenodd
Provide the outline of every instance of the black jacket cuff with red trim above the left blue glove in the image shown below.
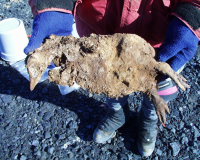
<path fill-rule="evenodd" d="M 73 13 L 77 1 L 80 0 L 29 0 L 33 17 L 45 11 Z"/>

